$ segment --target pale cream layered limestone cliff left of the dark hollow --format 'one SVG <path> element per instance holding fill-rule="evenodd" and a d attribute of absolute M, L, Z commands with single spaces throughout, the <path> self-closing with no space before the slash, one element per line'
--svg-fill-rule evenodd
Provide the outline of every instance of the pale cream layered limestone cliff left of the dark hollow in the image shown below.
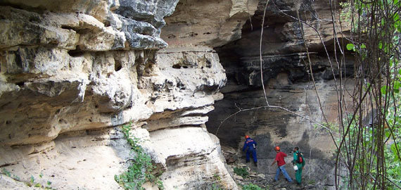
<path fill-rule="evenodd" d="M 118 189 L 127 122 L 166 189 L 207 188 L 215 174 L 237 188 L 204 125 L 227 82 L 212 48 L 241 37 L 257 1 L 0 3 L 0 165 L 22 181 L 2 175 L 1 189 L 26 189 L 31 175 Z"/>

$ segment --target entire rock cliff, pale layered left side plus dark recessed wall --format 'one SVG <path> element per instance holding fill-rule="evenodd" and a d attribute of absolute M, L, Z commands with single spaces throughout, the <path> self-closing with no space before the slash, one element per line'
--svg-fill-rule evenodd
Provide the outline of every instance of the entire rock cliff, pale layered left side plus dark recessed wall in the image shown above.
<path fill-rule="evenodd" d="M 272 2 L 262 36 L 269 103 L 323 120 L 305 65 L 303 27 L 316 87 L 333 120 L 333 78 L 352 74 L 352 63 L 340 65 L 349 73 L 331 72 L 337 65 L 329 64 L 323 46 L 335 59 L 328 3 Z M 114 176 L 132 159 L 120 129 L 127 123 L 163 172 L 165 189 L 238 189 L 220 141 L 236 149 L 243 134 L 260 144 L 257 172 L 272 174 L 265 164 L 274 156 L 269 148 L 289 151 L 294 144 L 315 165 L 307 176 L 318 167 L 330 171 L 328 134 L 293 114 L 252 110 L 220 125 L 238 108 L 265 105 L 259 72 L 265 4 L 0 1 L 0 167 L 12 175 L 3 172 L 0 188 L 27 189 L 31 177 L 56 189 L 122 188 Z M 297 12 L 322 39 L 287 16 Z M 322 185 L 331 186 L 331 179 L 324 177 Z"/>

